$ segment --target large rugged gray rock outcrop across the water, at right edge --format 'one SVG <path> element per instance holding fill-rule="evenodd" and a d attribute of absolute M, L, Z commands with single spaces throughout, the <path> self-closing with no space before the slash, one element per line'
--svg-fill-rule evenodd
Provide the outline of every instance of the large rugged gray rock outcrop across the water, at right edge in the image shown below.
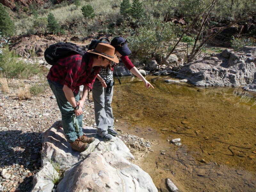
<path fill-rule="evenodd" d="M 223 57 L 224 56 L 224 57 Z M 236 53 L 224 50 L 185 65 L 177 74 L 199 86 L 239 86 L 256 78 L 256 47 L 245 46 Z"/>

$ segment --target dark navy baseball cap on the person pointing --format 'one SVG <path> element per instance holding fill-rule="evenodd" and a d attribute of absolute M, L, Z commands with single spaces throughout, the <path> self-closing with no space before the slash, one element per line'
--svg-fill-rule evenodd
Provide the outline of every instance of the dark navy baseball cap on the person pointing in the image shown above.
<path fill-rule="evenodd" d="M 132 53 L 128 48 L 127 43 L 127 40 L 124 40 L 123 37 L 115 37 L 112 39 L 110 44 L 115 47 L 116 51 L 118 51 L 121 55 L 126 56 Z"/>

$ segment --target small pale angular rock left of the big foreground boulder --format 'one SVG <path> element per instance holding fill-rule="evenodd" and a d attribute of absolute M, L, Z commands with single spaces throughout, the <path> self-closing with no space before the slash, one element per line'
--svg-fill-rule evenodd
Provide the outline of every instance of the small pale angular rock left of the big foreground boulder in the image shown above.
<path fill-rule="evenodd" d="M 50 162 L 43 164 L 41 170 L 33 177 L 33 188 L 31 192 L 52 192 L 53 181 L 59 178 L 59 173 Z"/>

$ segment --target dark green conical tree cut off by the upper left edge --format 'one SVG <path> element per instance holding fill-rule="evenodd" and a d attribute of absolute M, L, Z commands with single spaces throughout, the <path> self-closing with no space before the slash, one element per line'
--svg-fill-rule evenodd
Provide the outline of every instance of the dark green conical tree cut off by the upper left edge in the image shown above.
<path fill-rule="evenodd" d="M 12 36 L 14 33 L 14 22 L 11 20 L 4 6 L 0 3 L 0 32 L 1 35 Z"/>

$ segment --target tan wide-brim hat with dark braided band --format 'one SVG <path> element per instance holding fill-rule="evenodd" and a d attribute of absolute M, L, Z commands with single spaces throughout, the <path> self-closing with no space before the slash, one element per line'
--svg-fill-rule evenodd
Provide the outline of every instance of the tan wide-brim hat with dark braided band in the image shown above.
<path fill-rule="evenodd" d="M 114 61 L 115 63 L 119 63 L 119 60 L 115 55 L 115 47 L 110 44 L 99 43 L 95 49 L 89 50 L 87 52 L 100 55 L 107 58 L 108 60 Z"/>

